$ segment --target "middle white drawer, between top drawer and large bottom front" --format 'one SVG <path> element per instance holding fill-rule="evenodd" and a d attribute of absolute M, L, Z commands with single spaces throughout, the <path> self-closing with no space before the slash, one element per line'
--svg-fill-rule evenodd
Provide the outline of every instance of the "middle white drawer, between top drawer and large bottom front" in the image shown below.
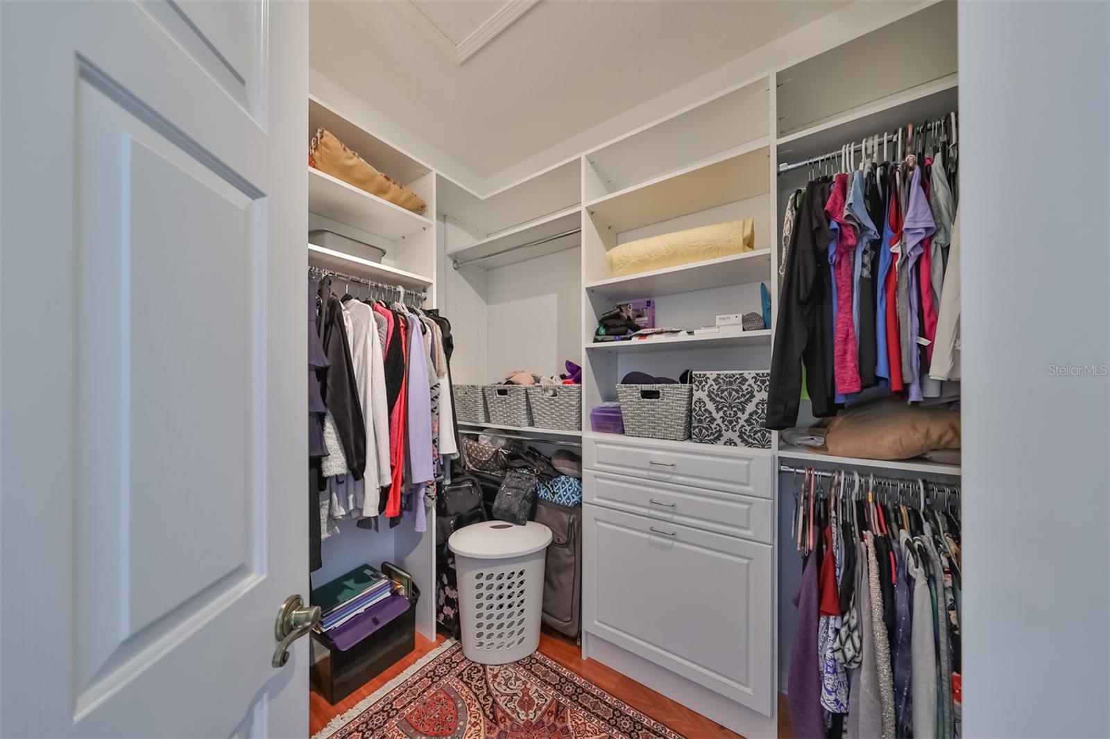
<path fill-rule="evenodd" d="M 582 483 L 586 503 L 729 536 L 743 536 L 764 544 L 771 543 L 774 506 L 768 498 L 589 469 L 583 475 Z"/>

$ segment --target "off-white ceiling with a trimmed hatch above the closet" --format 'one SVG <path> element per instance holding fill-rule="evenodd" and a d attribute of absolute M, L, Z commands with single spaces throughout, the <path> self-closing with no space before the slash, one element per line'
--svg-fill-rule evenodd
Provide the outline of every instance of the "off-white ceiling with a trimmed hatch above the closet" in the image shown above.
<path fill-rule="evenodd" d="M 488 178 L 847 3 L 517 4 L 313 0 L 310 62 Z"/>

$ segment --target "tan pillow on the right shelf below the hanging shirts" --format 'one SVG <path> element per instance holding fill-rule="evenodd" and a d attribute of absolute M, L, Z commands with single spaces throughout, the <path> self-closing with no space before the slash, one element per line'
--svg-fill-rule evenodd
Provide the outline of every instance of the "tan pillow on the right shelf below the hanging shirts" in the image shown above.
<path fill-rule="evenodd" d="M 876 401 L 841 412 L 825 434 L 829 454 L 867 459 L 909 459 L 934 449 L 960 448 L 960 413 Z"/>

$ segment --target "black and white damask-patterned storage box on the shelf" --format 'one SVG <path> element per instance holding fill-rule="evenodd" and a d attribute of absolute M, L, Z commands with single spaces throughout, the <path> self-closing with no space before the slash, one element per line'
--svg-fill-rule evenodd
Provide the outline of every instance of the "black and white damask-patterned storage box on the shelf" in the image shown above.
<path fill-rule="evenodd" d="M 690 439 L 699 444 L 770 448 L 767 371 L 695 372 Z"/>

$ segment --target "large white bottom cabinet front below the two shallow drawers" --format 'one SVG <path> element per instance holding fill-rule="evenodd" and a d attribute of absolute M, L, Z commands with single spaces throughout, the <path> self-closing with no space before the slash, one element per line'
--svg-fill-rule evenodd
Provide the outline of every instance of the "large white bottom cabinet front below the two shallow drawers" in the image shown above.
<path fill-rule="evenodd" d="M 771 715 L 771 547 L 584 506 L 583 628 Z"/>

